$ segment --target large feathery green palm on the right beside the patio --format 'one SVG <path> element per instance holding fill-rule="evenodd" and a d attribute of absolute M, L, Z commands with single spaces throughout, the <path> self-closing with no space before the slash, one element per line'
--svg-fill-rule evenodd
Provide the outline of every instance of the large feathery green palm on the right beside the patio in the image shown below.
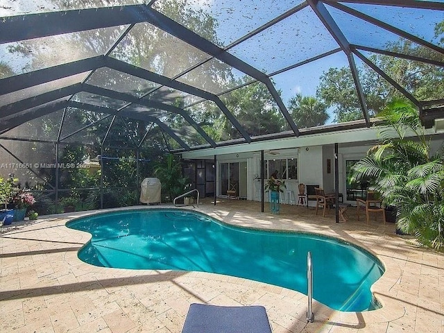
<path fill-rule="evenodd" d="M 397 226 L 418 241 L 444 249 L 444 157 L 433 153 L 418 111 L 396 100 L 380 114 L 381 142 L 353 166 L 353 180 L 370 179 L 384 205 L 395 207 Z M 382 127 L 381 127 L 382 126 Z M 407 135 L 411 136 L 406 139 Z"/>

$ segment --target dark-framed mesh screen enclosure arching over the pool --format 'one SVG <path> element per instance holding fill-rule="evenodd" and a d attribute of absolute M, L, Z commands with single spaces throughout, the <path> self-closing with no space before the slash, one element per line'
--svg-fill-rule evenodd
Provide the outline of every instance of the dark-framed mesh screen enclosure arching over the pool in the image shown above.
<path fill-rule="evenodd" d="M 393 98 L 444 118 L 443 0 L 3 3 L 1 176 L 49 200 L 103 205 L 164 152 L 369 127 Z"/>

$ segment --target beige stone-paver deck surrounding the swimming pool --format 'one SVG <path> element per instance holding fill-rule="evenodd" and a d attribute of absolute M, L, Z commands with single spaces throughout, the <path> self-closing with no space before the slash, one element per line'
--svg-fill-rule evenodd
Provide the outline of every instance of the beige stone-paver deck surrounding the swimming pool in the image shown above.
<path fill-rule="evenodd" d="M 77 212 L 1 234 L 1 331 L 180 332 L 189 304 L 207 302 L 264 305 L 273 332 L 444 333 L 443 254 L 398 237 L 393 223 L 334 223 L 333 214 L 290 205 L 272 215 L 258 204 L 221 200 L 196 210 L 232 225 L 314 232 L 366 248 L 386 267 L 373 286 L 382 309 L 339 312 L 314 302 L 315 322 L 307 324 L 307 296 L 297 291 L 212 273 L 94 267 L 77 258 L 90 235 L 65 227 L 92 213 Z"/>

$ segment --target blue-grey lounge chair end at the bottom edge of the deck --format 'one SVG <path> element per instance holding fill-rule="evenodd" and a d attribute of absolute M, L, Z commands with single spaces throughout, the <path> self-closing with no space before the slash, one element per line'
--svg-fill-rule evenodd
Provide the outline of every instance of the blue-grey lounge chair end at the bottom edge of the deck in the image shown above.
<path fill-rule="evenodd" d="M 193 303 L 189 306 L 182 333 L 271 333 L 265 308 L 222 307 Z"/>

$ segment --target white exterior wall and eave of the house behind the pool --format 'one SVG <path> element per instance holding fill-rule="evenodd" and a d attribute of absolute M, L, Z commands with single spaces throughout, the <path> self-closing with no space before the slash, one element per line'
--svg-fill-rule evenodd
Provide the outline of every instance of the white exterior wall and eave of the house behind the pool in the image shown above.
<path fill-rule="evenodd" d="M 438 149 L 443 147 L 443 135 L 432 135 L 431 137 L 433 139 L 432 150 L 438 151 Z M 261 150 L 264 150 L 265 160 L 273 158 L 273 155 L 270 155 L 269 151 L 277 153 L 275 158 L 295 157 L 298 159 L 298 180 L 286 180 L 286 185 L 287 189 L 293 190 L 297 198 L 298 184 L 301 182 L 305 185 L 320 185 L 325 191 L 334 190 L 333 143 L 336 142 L 339 144 L 339 193 L 342 193 L 345 199 L 345 161 L 359 160 L 366 156 L 368 149 L 373 146 L 378 139 L 377 131 L 374 128 L 360 128 L 357 130 L 342 131 L 341 133 L 323 133 L 266 142 L 253 142 L 251 144 L 241 144 L 237 146 L 226 146 L 209 149 L 208 151 L 190 151 L 183 153 L 182 156 L 191 159 L 212 158 L 214 153 L 217 153 L 218 163 L 246 161 L 246 193 L 248 200 L 260 200 L 260 192 L 258 191 L 258 188 L 260 188 L 260 180 L 257 180 L 257 178 L 260 177 Z M 330 160 L 330 173 L 327 170 L 327 160 Z M 266 177 L 265 175 L 265 178 Z M 220 193 L 220 191 L 217 193 Z M 265 194 L 265 199 L 266 201 L 268 200 L 268 194 Z M 311 205 L 313 205 L 313 203 L 311 203 Z"/>

